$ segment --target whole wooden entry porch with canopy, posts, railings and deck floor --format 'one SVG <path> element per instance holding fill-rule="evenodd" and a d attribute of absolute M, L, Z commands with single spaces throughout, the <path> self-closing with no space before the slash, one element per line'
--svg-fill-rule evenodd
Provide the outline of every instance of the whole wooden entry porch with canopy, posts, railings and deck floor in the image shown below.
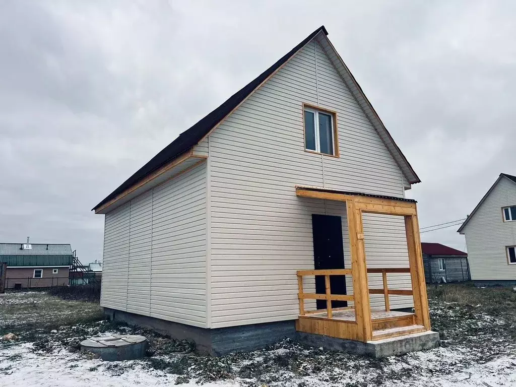
<path fill-rule="evenodd" d="M 296 329 L 301 332 L 323 334 L 361 342 L 404 336 L 430 330 L 428 298 L 425 273 L 417 221 L 416 202 L 406 199 L 374 197 L 351 192 L 340 192 L 312 187 L 296 187 L 298 197 L 343 201 L 346 203 L 349 244 L 351 252 L 350 269 L 299 270 L 299 318 Z M 402 216 L 409 255 L 409 267 L 367 268 L 363 213 Z M 369 274 L 382 275 L 381 288 L 369 288 Z M 389 288 L 390 273 L 410 273 L 411 289 Z M 303 277 L 324 276 L 325 294 L 305 293 Z M 351 276 L 353 294 L 331 294 L 330 277 Z M 382 294 L 384 310 L 371 310 L 369 295 Z M 391 296 L 412 296 L 414 313 L 391 311 Z M 326 309 L 305 311 L 304 300 L 326 300 Z M 352 302 L 351 307 L 332 308 L 331 301 Z"/>

